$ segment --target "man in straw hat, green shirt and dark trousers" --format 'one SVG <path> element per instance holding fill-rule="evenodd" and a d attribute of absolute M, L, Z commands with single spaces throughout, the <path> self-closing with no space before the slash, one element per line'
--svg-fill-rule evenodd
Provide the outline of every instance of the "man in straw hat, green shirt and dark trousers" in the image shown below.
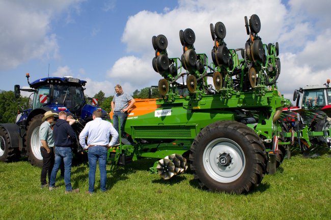
<path fill-rule="evenodd" d="M 51 123 L 54 122 L 54 116 L 58 115 L 52 111 L 47 111 L 44 114 L 44 117 L 41 119 L 44 121 L 40 125 L 39 129 L 39 138 L 40 138 L 40 153 L 43 157 L 43 165 L 40 174 L 41 188 L 48 186 L 46 181 L 46 176 L 48 175 L 48 182 L 50 179 L 50 173 L 54 165 L 54 139 L 53 139 L 53 130 L 51 128 Z"/>

